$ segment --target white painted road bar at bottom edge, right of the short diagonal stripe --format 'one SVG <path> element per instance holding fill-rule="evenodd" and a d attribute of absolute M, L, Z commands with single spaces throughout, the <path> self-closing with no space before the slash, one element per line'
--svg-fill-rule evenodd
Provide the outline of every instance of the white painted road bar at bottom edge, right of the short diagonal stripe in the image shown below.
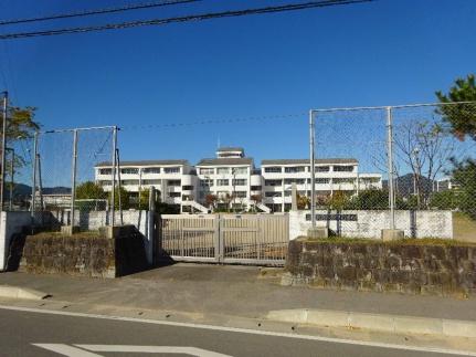
<path fill-rule="evenodd" d="M 197 357 L 232 357 L 197 347 L 129 346 L 129 345 L 74 345 L 95 353 L 181 354 Z"/>

